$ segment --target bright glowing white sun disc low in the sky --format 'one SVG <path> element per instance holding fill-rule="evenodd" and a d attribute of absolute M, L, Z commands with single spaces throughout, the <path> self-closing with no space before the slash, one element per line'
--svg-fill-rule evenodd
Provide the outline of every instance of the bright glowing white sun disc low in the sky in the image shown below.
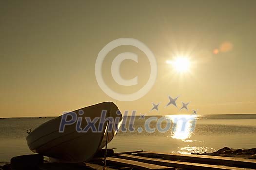
<path fill-rule="evenodd" d="M 168 60 L 166 63 L 171 64 L 173 68 L 179 73 L 188 72 L 191 65 L 190 59 L 183 56 L 176 57 L 172 61 Z"/>

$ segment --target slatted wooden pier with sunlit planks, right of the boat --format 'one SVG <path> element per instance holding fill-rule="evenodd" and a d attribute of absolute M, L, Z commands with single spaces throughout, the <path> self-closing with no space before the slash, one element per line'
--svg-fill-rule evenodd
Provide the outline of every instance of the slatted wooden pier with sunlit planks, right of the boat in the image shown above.
<path fill-rule="evenodd" d="M 103 169 L 103 158 L 95 158 L 86 167 Z M 134 151 L 107 157 L 106 170 L 256 170 L 256 160 L 221 156 Z"/>

